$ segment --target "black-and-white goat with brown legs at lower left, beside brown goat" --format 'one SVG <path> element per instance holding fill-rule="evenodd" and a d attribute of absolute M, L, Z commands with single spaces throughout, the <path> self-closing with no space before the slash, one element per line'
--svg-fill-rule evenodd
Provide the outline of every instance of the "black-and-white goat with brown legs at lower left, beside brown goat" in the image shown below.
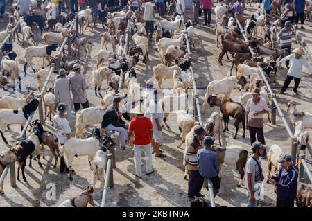
<path fill-rule="evenodd" d="M 37 156 L 37 161 L 42 167 L 40 162 L 40 144 L 42 143 L 42 134 L 44 129 L 41 124 L 33 125 L 33 133 L 28 136 L 28 139 L 21 141 L 17 148 L 17 180 L 19 180 L 19 170 L 21 170 L 21 175 L 23 176 L 24 182 L 27 182 L 27 179 L 24 174 L 26 159 L 29 156 L 29 167 L 31 167 L 31 159 L 33 158 L 33 153 Z"/>

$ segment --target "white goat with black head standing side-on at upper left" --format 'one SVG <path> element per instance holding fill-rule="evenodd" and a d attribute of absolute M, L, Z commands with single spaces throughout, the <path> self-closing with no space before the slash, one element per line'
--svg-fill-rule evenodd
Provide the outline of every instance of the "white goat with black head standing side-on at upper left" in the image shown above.
<path fill-rule="evenodd" d="M 33 58 L 35 57 L 42 58 L 42 69 L 44 69 L 44 58 L 46 58 L 46 60 L 48 60 L 49 62 L 49 56 L 51 56 L 52 51 L 56 51 L 56 48 L 58 48 L 56 44 L 53 44 L 51 46 L 46 45 L 40 47 L 30 46 L 26 48 L 25 50 L 26 62 L 24 64 L 25 76 L 27 74 L 26 73 L 27 64 L 29 64 L 31 66 L 31 69 L 33 69 L 33 72 L 35 72 L 35 69 L 33 68 L 32 65 Z"/>

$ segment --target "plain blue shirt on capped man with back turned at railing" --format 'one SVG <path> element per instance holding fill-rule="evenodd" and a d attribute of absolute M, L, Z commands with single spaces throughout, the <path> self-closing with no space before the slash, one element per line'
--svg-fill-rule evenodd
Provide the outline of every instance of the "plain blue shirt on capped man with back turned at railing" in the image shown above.
<path fill-rule="evenodd" d="M 198 150 L 198 170 L 202 177 L 214 178 L 219 174 L 219 163 L 216 152 L 211 147 Z"/>

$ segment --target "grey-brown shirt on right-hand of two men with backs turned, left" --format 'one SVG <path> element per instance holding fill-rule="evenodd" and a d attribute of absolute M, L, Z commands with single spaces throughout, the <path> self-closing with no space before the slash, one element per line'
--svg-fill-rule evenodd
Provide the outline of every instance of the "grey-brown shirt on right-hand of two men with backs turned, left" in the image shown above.
<path fill-rule="evenodd" d="M 73 94 L 73 103 L 85 103 L 88 100 L 87 91 L 88 85 L 85 82 L 85 77 L 80 73 L 71 73 L 69 76 L 71 83 L 71 93 Z"/>

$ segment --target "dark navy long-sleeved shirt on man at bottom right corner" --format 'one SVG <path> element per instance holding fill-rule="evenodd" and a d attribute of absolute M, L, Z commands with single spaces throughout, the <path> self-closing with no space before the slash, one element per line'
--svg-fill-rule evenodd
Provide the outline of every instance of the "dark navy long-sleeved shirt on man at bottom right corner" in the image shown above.
<path fill-rule="evenodd" d="M 293 199 L 297 192 L 297 170 L 291 165 L 288 170 L 286 168 L 280 168 L 275 175 L 272 175 L 272 179 L 277 182 L 277 198 L 279 200 Z"/>

